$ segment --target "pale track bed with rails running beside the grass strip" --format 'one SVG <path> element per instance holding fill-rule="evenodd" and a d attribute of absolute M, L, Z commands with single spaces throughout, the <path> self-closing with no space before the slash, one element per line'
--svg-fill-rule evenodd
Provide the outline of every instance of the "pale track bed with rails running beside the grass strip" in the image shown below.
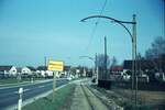
<path fill-rule="evenodd" d="M 69 110 L 109 110 L 88 87 L 87 81 L 76 84 Z"/>

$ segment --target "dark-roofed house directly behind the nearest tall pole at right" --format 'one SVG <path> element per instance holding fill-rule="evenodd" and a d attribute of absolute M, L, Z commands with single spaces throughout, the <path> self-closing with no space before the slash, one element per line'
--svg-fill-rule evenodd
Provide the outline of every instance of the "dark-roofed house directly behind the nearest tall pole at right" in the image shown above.
<path fill-rule="evenodd" d="M 123 72 L 132 75 L 132 61 L 124 61 Z M 156 81 L 155 73 L 158 72 L 158 59 L 141 59 L 136 61 L 138 80 L 139 81 Z"/>

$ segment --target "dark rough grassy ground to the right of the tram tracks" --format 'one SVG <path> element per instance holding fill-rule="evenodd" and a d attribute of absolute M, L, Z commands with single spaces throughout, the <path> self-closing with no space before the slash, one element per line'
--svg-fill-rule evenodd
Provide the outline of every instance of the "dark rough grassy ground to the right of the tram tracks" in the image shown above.
<path fill-rule="evenodd" d="M 112 99 L 117 105 L 124 108 L 124 110 L 165 110 L 165 92 L 164 91 L 145 91 L 139 90 L 138 106 L 131 100 L 131 90 L 122 88 L 112 88 L 106 90 L 97 86 L 91 86 L 106 97 Z"/>

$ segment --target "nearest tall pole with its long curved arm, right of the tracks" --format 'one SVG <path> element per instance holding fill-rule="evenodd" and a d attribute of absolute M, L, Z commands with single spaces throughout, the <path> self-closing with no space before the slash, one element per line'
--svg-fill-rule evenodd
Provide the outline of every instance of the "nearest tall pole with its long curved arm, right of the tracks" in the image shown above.
<path fill-rule="evenodd" d="M 80 20 L 80 22 L 85 22 L 88 19 L 95 19 L 95 18 L 108 19 L 112 22 L 120 24 L 122 28 L 125 29 L 125 31 L 131 36 L 131 43 L 132 43 L 132 96 L 133 96 L 134 78 L 135 78 L 135 105 L 136 105 L 138 76 L 136 76 L 136 19 L 135 19 L 135 14 L 133 14 L 133 19 L 131 22 L 120 21 L 120 20 L 110 18 L 110 16 L 105 16 L 105 15 L 87 16 L 87 18 Z M 124 24 L 131 24 L 132 25 L 132 33 L 130 32 L 130 30 Z"/>

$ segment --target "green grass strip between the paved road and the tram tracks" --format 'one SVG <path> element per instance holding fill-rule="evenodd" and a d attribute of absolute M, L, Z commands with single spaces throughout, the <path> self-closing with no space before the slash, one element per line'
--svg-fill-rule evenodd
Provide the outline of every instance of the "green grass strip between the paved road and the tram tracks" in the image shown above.
<path fill-rule="evenodd" d="M 76 85 L 69 84 L 55 91 L 54 102 L 52 94 L 47 97 L 35 100 L 34 102 L 23 107 L 23 110 L 67 110 L 70 106 L 70 100 Z"/>

